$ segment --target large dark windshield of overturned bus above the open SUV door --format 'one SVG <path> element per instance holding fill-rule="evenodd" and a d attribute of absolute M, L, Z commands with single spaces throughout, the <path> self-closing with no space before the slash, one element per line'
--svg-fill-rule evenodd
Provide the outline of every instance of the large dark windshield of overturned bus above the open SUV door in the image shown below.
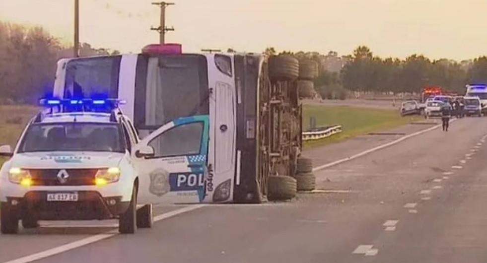
<path fill-rule="evenodd" d="M 208 115 L 207 68 L 206 58 L 201 55 L 140 55 L 136 73 L 136 128 L 153 131 L 175 118 Z M 146 135 L 140 132 L 142 137 Z"/>

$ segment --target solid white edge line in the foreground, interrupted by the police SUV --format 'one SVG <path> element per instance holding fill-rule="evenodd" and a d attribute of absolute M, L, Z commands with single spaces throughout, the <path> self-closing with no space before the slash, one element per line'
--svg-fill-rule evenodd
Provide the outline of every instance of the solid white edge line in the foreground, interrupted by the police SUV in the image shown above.
<path fill-rule="evenodd" d="M 173 211 L 170 211 L 167 213 L 163 213 L 163 214 L 155 216 L 154 222 L 157 222 L 157 221 L 169 218 L 169 217 L 173 217 L 173 216 L 178 215 L 178 214 L 182 214 L 182 213 L 186 213 L 186 212 L 189 212 L 192 210 L 196 210 L 196 209 L 199 209 L 203 206 L 205 206 L 205 205 L 204 204 L 190 205 L 187 207 L 183 207 L 181 209 L 176 209 L 176 210 L 173 210 Z M 37 261 L 40 259 L 44 259 L 47 257 L 51 257 L 54 255 L 69 251 L 69 250 L 72 250 L 75 248 L 79 248 L 79 247 L 82 247 L 82 246 L 85 246 L 85 245 L 88 245 L 91 243 L 95 243 L 95 242 L 98 242 L 100 240 L 107 239 L 107 238 L 110 238 L 110 237 L 113 237 L 116 235 L 118 235 L 118 231 L 117 230 L 111 230 L 111 231 L 107 231 L 106 233 L 103 233 L 103 234 L 98 234 L 98 235 L 94 235 L 91 237 L 83 238 L 81 240 L 77 240 L 77 241 L 56 247 L 56 248 L 52 248 L 52 249 L 49 249 L 46 251 L 42 251 L 42 252 L 39 252 L 36 254 L 32 254 L 29 256 L 25 256 L 25 257 L 22 257 L 22 258 L 19 258 L 16 260 L 11 260 L 11 261 L 7 261 L 7 262 L 3 262 L 3 263 L 28 263 L 28 262 L 33 262 L 33 261 Z"/>

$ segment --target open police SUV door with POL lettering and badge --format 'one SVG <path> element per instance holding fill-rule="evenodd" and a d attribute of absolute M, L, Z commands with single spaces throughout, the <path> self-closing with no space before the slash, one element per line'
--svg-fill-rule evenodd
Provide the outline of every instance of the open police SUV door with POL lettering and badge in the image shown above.
<path fill-rule="evenodd" d="M 138 203 L 192 203 L 205 198 L 209 116 L 178 118 L 132 149 Z"/>

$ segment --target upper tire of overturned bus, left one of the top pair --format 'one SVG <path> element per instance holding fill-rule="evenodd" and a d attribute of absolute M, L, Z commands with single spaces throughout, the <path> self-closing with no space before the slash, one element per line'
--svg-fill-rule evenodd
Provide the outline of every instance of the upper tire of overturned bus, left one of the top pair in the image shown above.
<path fill-rule="evenodd" d="M 272 81 L 293 81 L 299 75 L 299 62 L 289 55 L 269 58 L 269 77 Z"/>

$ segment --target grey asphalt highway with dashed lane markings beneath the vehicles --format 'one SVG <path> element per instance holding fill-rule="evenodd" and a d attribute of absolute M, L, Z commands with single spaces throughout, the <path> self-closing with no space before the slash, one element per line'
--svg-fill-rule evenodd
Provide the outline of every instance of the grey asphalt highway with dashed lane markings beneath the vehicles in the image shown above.
<path fill-rule="evenodd" d="M 135 235 L 94 235 L 109 227 L 61 234 L 52 226 L 0 235 L 0 263 L 484 263 L 486 134 L 487 118 L 457 120 L 449 132 L 436 129 L 316 171 L 327 191 L 263 205 L 160 207 L 154 228 Z M 340 154 L 378 140 L 344 142 L 348 154 Z"/>

